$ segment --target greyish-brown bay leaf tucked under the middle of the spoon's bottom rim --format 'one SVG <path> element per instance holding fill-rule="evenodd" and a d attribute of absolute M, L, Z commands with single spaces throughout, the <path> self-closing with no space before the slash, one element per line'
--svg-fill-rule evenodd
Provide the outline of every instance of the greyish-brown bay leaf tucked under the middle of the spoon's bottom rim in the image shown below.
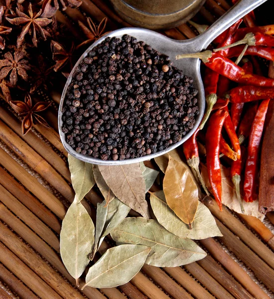
<path fill-rule="evenodd" d="M 150 217 L 145 200 L 145 182 L 139 163 L 99 165 L 99 170 L 116 197 L 143 217 Z"/>

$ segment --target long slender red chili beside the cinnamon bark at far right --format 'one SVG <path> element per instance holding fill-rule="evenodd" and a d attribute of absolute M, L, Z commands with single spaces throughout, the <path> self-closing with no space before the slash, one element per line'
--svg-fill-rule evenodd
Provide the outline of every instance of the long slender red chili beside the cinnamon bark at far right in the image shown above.
<path fill-rule="evenodd" d="M 257 199 L 258 156 L 269 102 L 270 99 L 262 101 L 251 127 L 244 180 L 244 200 L 246 202 L 253 202 Z"/>

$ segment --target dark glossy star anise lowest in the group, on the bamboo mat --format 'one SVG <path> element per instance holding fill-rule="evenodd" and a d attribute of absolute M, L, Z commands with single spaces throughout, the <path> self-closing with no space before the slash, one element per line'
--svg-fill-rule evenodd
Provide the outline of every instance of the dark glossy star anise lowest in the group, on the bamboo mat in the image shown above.
<path fill-rule="evenodd" d="M 19 116 L 24 116 L 22 121 L 22 134 L 25 135 L 31 129 L 35 122 L 48 127 L 48 123 L 37 113 L 46 110 L 51 103 L 38 102 L 32 107 L 31 98 L 29 94 L 25 96 L 25 102 L 22 101 L 10 101 L 10 106 L 18 113 Z"/>

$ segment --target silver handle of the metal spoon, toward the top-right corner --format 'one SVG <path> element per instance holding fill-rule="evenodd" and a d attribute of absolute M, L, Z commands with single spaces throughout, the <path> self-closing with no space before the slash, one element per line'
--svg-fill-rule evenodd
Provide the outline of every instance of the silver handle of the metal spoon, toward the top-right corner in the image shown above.
<path fill-rule="evenodd" d="M 238 21 L 241 17 L 260 6 L 267 0 L 240 0 L 224 15 L 222 15 L 214 24 L 212 24 L 204 33 L 197 37 L 195 42 L 195 52 L 200 52 L 221 33 Z"/>

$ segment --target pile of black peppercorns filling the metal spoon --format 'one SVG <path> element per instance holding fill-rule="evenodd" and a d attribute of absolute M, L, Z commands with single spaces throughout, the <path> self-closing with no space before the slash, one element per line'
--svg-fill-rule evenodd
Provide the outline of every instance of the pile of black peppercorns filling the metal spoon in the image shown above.
<path fill-rule="evenodd" d="M 135 37 L 106 38 L 76 67 L 62 132 L 76 152 L 124 160 L 168 148 L 199 114 L 193 79 Z"/>

